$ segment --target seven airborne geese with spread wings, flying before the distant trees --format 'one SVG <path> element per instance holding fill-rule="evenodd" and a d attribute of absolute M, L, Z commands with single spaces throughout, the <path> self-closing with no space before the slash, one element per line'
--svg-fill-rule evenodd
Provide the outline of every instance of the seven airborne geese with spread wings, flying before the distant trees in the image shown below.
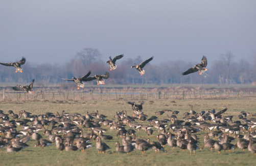
<path fill-rule="evenodd" d="M 124 57 L 124 54 L 122 55 L 118 55 L 118 56 L 115 56 L 113 59 L 111 58 L 111 56 L 109 57 L 109 60 L 106 61 L 107 64 L 109 64 L 110 66 L 110 70 L 114 70 L 115 68 L 117 68 L 117 65 L 115 64 L 115 62 L 118 60 L 118 59 L 121 59 Z M 136 68 L 139 72 L 139 74 L 144 75 L 145 74 L 145 70 L 143 69 L 143 67 L 145 67 L 145 65 L 147 63 L 149 63 L 151 60 L 153 60 L 154 57 L 151 57 L 145 61 L 143 61 L 142 63 L 140 64 L 134 64 L 133 66 L 131 66 L 131 68 Z M 5 65 L 5 66 L 13 66 L 15 67 L 15 72 L 20 72 L 22 73 L 22 67 L 21 65 L 25 64 L 26 62 L 26 59 L 24 57 L 22 57 L 22 59 L 18 62 L 13 62 L 13 63 L 0 63 L 2 65 Z M 207 69 L 205 68 L 207 65 L 207 59 L 205 56 L 203 56 L 202 60 L 201 60 L 201 63 L 198 63 L 196 64 L 194 67 L 191 67 L 189 68 L 187 71 L 185 71 L 184 73 L 182 73 L 182 75 L 188 75 L 188 74 L 191 74 L 191 73 L 195 73 L 195 72 L 198 72 L 199 71 L 199 74 L 201 75 L 202 73 L 204 73 L 205 71 L 207 71 Z M 75 78 L 73 77 L 72 79 L 64 79 L 64 78 L 61 78 L 63 80 L 66 80 L 66 81 L 73 81 L 77 84 L 77 89 L 79 88 L 83 88 L 84 87 L 84 83 L 83 82 L 86 82 L 86 81 L 92 81 L 92 80 L 97 80 L 97 85 L 100 85 L 100 84 L 105 84 L 105 81 L 104 79 L 108 79 L 109 78 L 109 73 L 106 72 L 104 75 L 95 75 L 95 76 L 92 76 L 92 77 L 89 77 L 91 71 L 89 71 L 85 76 L 83 77 L 80 77 L 80 78 Z M 34 93 L 33 92 L 33 83 L 34 83 L 34 79 L 32 80 L 32 82 L 30 83 L 30 85 L 26 85 L 26 86 L 23 86 L 23 85 L 16 85 L 14 87 L 12 87 L 13 90 L 16 90 L 16 91 L 26 91 L 27 94 L 29 93 Z"/>

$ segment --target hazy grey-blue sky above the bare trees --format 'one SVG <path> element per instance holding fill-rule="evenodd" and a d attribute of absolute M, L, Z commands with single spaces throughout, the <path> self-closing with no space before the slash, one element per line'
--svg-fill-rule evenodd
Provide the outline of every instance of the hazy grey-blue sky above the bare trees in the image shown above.
<path fill-rule="evenodd" d="M 155 64 L 256 54 L 255 0 L 2 0 L 0 25 L 1 62 L 62 64 L 83 48 Z"/>

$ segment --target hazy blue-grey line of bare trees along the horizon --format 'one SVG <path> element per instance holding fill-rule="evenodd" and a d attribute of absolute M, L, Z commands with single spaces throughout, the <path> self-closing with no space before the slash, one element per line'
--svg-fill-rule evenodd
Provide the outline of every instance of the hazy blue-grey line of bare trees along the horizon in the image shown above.
<path fill-rule="evenodd" d="M 113 57 L 112 57 L 113 58 Z M 77 53 L 65 64 L 39 64 L 35 65 L 26 62 L 22 67 L 22 74 L 15 74 L 14 69 L 0 65 L 1 83 L 25 83 L 32 79 L 36 80 L 37 85 L 49 85 L 64 83 L 60 79 L 84 76 L 88 70 L 91 75 L 105 74 L 110 67 L 105 64 L 107 59 L 102 60 L 102 55 L 97 49 L 85 48 Z M 143 59 L 137 57 L 123 58 L 117 61 L 117 69 L 110 72 L 107 84 L 251 84 L 256 82 L 256 56 L 253 62 L 242 59 L 234 61 L 231 52 L 220 55 L 220 58 L 208 65 L 207 72 L 202 75 L 193 73 L 182 76 L 181 73 L 197 62 L 185 62 L 182 60 L 162 62 L 160 64 L 147 64 L 145 75 L 141 76 L 135 69 L 131 69 L 134 63 L 141 63 Z M 86 84 L 96 84 L 96 81 Z"/>

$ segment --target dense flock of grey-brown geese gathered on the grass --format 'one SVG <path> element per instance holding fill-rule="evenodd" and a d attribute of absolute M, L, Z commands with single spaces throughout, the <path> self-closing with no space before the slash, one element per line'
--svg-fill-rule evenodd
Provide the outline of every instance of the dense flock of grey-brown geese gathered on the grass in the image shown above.
<path fill-rule="evenodd" d="M 254 145 L 256 118 L 249 118 L 256 114 L 242 111 L 238 116 L 239 120 L 233 122 L 233 116 L 222 115 L 227 108 L 218 112 L 215 110 L 196 112 L 191 106 L 191 110 L 184 112 L 180 118 L 178 118 L 179 111 L 172 110 L 157 111 L 149 117 L 142 112 L 143 103 L 136 105 L 135 102 L 128 102 L 128 104 L 131 104 L 134 110 L 133 116 L 127 115 L 127 112 L 122 110 L 109 118 L 104 114 L 99 114 L 98 110 L 92 113 L 87 111 L 84 115 L 69 114 L 64 110 L 61 114 L 45 112 L 38 115 L 25 110 L 17 114 L 12 110 L 8 113 L 0 110 L 2 135 L 0 147 L 5 147 L 7 152 L 19 152 L 26 148 L 28 146 L 26 143 L 32 139 L 35 141 L 35 147 L 41 147 L 42 150 L 46 146 L 55 144 L 60 152 L 63 150 L 84 152 L 87 148 L 94 147 L 89 141 L 96 139 L 96 150 L 98 153 L 105 153 L 110 148 L 103 140 L 118 140 L 120 136 L 122 146 L 117 141 L 115 143 L 117 146 L 111 147 L 116 152 L 129 154 L 135 149 L 142 153 L 146 153 L 149 149 L 153 149 L 155 153 L 166 152 L 165 146 L 168 145 L 173 148 L 178 147 L 183 151 L 188 150 L 191 155 L 195 154 L 198 149 L 197 132 L 205 131 L 200 149 L 207 147 L 212 150 L 214 148 L 220 153 L 222 150 L 230 152 L 232 149 L 240 148 L 243 151 L 248 149 L 256 155 L 256 145 Z M 138 111 L 139 115 L 135 111 Z M 163 114 L 166 114 L 168 118 L 160 118 Z M 40 130 L 48 139 L 44 139 L 39 134 Z M 107 135 L 108 131 L 114 130 L 117 130 L 116 137 Z M 144 130 L 145 134 L 143 134 Z M 137 131 L 145 137 L 136 137 Z M 151 141 L 149 137 L 157 131 L 157 141 Z M 234 145 L 231 141 L 235 139 L 237 139 L 237 144 Z"/>

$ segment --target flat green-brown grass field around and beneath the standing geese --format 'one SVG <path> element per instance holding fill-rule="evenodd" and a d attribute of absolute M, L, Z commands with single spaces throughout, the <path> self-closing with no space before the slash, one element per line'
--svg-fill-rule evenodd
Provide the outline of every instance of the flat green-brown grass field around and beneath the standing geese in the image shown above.
<path fill-rule="evenodd" d="M 50 95 L 50 94 L 49 94 Z M 193 109 L 197 112 L 202 110 L 221 110 L 225 107 L 228 110 L 224 115 L 234 115 L 233 120 L 238 120 L 238 116 L 241 111 L 255 112 L 256 108 L 256 97 L 254 95 L 241 96 L 237 99 L 236 94 L 228 98 L 203 98 L 201 99 L 190 99 L 187 97 L 186 100 L 182 100 L 182 97 L 162 97 L 160 99 L 150 98 L 148 100 L 141 98 L 139 94 L 133 97 L 129 94 L 128 97 L 123 96 L 113 97 L 108 100 L 108 97 L 103 99 L 98 96 L 91 97 L 87 96 L 84 100 L 34 100 L 29 97 L 29 100 L 9 100 L 0 101 L 0 109 L 5 113 L 8 110 L 13 110 L 18 113 L 20 110 L 26 110 L 32 114 L 40 114 L 45 112 L 61 112 L 65 110 L 68 113 L 80 113 L 85 115 L 86 111 L 94 112 L 96 109 L 99 110 L 100 114 L 107 115 L 108 120 L 114 120 L 113 115 L 117 111 L 127 110 L 128 115 L 132 115 L 132 109 L 127 101 L 141 101 L 144 100 L 143 111 L 145 114 L 154 115 L 154 112 L 164 109 L 178 110 L 180 113 L 177 115 L 179 120 L 181 120 L 183 112 L 189 111 L 190 106 L 193 105 Z M 180 95 L 180 94 L 179 94 Z M 49 96 L 49 98 L 51 98 Z M 71 98 L 72 99 L 72 98 Z M 153 101 L 153 102 L 150 102 Z M 175 103 L 173 102 L 175 101 Z M 171 115 L 171 112 L 166 112 L 163 115 L 157 115 L 159 120 L 162 118 L 167 118 L 167 114 Z M 249 117 L 248 117 L 249 118 Z M 139 124 L 148 124 L 148 122 L 138 122 Z M 171 122 L 169 123 L 171 124 Z M 105 127 L 102 127 L 105 128 Z M 126 129 L 130 127 L 127 126 Z M 50 126 L 46 126 L 46 129 L 50 129 Z M 55 144 L 50 147 L 45 147 L 44 150 L 40 147 L 34 148 L 35 141 L 28 141 L 29 147 L 22 149 L 19 153 L 12 152 L 7 153 L 5 148 L 0 149 L 0 165 L 254 165 L 256 162 L 255 156 L 245 150 L 241 149 L 228 151 L 221 151 L 220 154 L 215 150 L 210 151 L 207 148 L 202 150 L 198 149 L 195 155 L 190 156 L 189 151 L 185 150 L 183 152 L 179 148 L 172 149 L 171 147 L 165 146 L 167 152 L 160 151 L 155 153 L 154 150 L 148 150 L 146 154 L 142 154 L 141 151 L 134 150 L 129 155 L 126 153 L 115 152 L 115 142 L 119 141 L 122 144 L 122 138 L 116 137 L 116 130 L 109 130 L 108 128 L 105 134 L 114 136 L 112 140 L 103 140 L 109 147 L 105 154 L 98 154 L 95 148 L 95 142 L 91 141 L 94 147 L 86 149 L 84 153 L 81 151 L 60 153 L 55 149 Z M 20 128 L 17 128 L 20 130 Z M 153 129 L 153 135 L 148 136 L 150 140 L 156 141 L 156 136 L 159 134 L 156 129 Z M 85 131 L 91 132 L 91 131 Z M 41 135 L 42 131 L 39 132 Z M 242 134 L 242 133 L 241 133 Z M 197 136 L 199 137 L 198 147 L 203 144 L 203 136 L 205 131 L 199 131 Z M 144 130 L 136 131 L 136 136 L 139 138 L 147 137 Z M 47 136 L 43 138 L 48 139 Z M 237 140 L 233 141 L 232 144 L 236 144 Z"/>

